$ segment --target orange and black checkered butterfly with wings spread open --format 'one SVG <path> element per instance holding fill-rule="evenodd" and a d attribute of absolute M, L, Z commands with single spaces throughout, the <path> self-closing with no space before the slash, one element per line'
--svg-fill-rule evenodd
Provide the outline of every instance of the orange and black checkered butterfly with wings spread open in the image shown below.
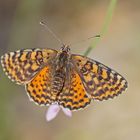
<path fill-rule="evenodd" d="M 86 107 L 93 100 L 121 94 L 127 81 L 116 71 L 86 56 L 71 54 L 68 45 L 53 49 L 23 49 L 1 57 L 6 75 L 24 85 L 38 105 L 58 105 L 70 110 Z"/>

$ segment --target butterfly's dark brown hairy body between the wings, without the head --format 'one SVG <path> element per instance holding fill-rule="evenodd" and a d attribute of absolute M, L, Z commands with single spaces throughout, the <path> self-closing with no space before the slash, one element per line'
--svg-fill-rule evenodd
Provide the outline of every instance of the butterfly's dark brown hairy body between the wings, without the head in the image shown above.
<path fill-rule="evenodd" d="M 54 99 L 64 87 L 68 68 L 67 66 L 69 64 L 69 56 L 70 55 L 67 51 L 61 51 L 55 59 L 55 68 L 52 80 L 52 95 L 54 96 Z"/>

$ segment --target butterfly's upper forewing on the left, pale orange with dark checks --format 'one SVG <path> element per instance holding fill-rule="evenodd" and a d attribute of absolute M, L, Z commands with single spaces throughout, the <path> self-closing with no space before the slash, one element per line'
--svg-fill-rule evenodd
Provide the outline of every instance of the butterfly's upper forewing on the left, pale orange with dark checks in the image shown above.
<path fill-rule="evenodd" d="M 23 49 L 3 55 L 1 64 L 12 81 L 26 84 L 56 55 L 52 49 Z"/>

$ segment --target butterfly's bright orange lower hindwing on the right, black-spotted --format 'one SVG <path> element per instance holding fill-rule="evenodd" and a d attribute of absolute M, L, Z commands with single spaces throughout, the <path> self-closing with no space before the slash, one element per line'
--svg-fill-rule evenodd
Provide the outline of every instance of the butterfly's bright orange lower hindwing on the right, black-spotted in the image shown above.
<path fill-rule="evenodd" d="M 58 104 L 70 110 L 79 110 L 91 102 L 79 74 L 74 68 L 68 67 L 65 85 L 58 95 Z"/>

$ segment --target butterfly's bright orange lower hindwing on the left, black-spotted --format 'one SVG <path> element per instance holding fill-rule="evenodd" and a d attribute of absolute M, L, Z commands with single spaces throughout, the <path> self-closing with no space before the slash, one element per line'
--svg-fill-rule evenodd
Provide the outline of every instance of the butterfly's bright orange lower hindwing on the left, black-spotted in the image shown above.
<path fill-rule="evenodd" d="M 38 72 L 35 77 L 26 84 L 26 91 L 35 103 L 38 105 L 49 105 L 51 100 L 51 66 L 46 66 Z"/>

